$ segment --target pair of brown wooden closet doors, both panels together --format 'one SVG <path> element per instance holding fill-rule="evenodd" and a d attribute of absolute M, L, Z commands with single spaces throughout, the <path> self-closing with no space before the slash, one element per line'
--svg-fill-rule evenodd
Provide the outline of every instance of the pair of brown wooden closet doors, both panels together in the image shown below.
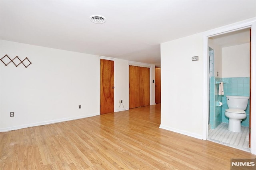
<path fill-rule="evenodd" d="M 129 108 L 150 105 L 150 70 L 129 66 Z"/>

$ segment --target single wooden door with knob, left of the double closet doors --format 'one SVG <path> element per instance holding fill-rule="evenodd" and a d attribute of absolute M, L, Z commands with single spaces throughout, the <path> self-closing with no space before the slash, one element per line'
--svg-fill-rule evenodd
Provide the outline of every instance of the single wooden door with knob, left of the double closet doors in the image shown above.
<path fill-rule="evenodd" d="M 100 59 L 100 114 L 114 112 L 114 61 Z"/>

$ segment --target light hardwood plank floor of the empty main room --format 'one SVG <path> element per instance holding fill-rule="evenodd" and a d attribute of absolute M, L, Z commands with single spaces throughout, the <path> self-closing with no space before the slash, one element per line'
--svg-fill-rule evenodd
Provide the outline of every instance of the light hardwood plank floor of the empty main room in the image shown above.
<path fill-rule="evenodd" d="M 0 169 L 228 170 L 230 158 L 256 158 L 159 125 L 157 104 L 0 132 Z"/>

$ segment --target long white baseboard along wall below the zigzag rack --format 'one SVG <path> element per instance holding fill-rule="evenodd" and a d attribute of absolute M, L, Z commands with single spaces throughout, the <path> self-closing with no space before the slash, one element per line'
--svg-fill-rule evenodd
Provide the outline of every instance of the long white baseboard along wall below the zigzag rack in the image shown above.
<path fill-rule="evenodd" d="M 83 119 L 83 118 L 93 117 L 93 116 L 97 116 L 97 115 L 99 115 L 99 114 L 91 114 L 91 115 L 84 115 L 84 116 L 78 116 L 78 117 L 70 117 L 70 118 L 64 118 L 64 119 L 55 119 L 55 120 L 51 120 L 51 121 L 44 121 L 44 122 L 38 122 L 38 123 L 24 124 L 24 125 L 20 125 L 20 126 L 16 126 L 16 127 L 1 128 L 0 132 L 7 132 L 7 131 L 17 130 L 17 129 L 21 129 L 21 128 L 36 127 L 36 126 L 41 126 L 41 125 L 50 125 L 50 124 L 53 124 L 53 123 L 73 121 L 73 120 L 76 120 L 76 119 Z"/>

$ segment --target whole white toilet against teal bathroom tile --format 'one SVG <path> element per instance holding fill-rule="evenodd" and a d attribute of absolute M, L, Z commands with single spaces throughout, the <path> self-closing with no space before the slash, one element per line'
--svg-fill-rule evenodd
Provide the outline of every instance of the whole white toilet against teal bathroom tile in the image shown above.
<path fill-rule="evenodd" d="M 247 96 L 226 96 L 228 108 L 225 116 L 229 118 L 228 130 L 232 132 L 242 132 L 241 121 L 246 118 L 246 107 L 248 105 Z"/>

